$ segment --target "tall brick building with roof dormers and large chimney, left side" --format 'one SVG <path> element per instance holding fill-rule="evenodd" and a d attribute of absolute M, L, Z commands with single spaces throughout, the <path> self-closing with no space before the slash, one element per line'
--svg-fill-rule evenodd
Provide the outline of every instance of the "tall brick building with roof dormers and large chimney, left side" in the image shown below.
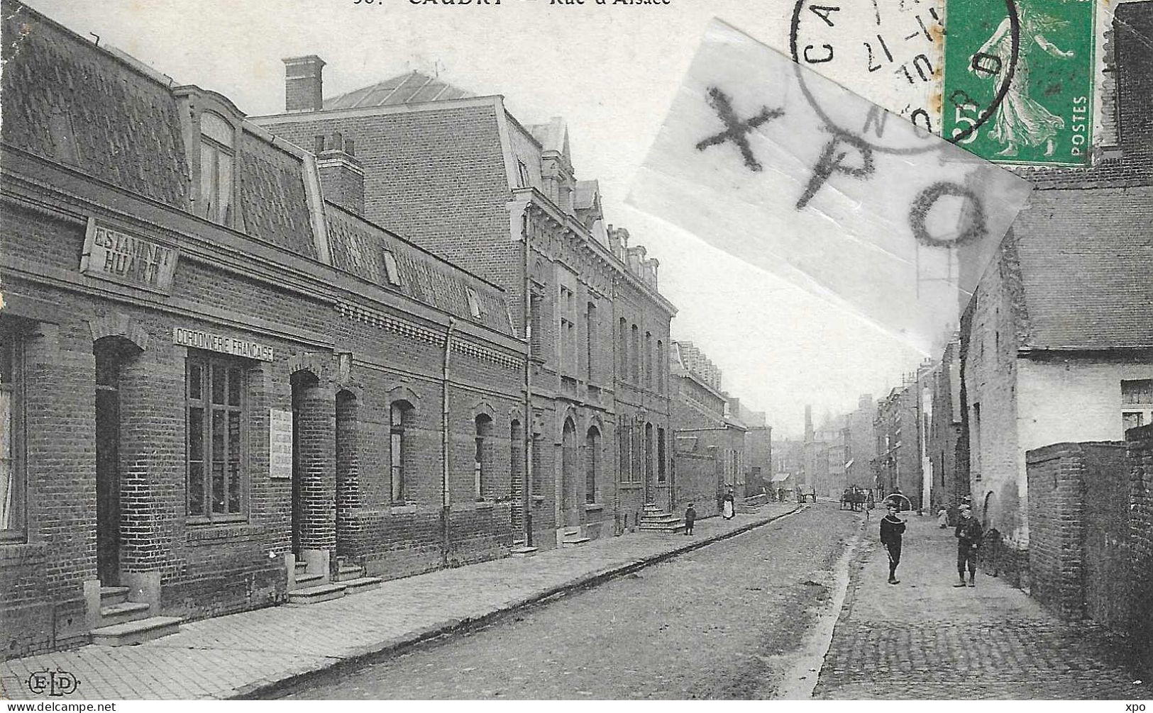
<path fill-rule="evenodd" d="M 369 220 L 505 289 L 530 350 L 515 529 L 551 546 L 669 508 L 676 309 L 657 260 L 605 222 L 596 181 L 576 181 L 564 121 L 526 126 L 499 96 L 417 73 L 323 99 L 323 67 L 286 60 L 286 113 L 254 121 L 353 143 Z"/>

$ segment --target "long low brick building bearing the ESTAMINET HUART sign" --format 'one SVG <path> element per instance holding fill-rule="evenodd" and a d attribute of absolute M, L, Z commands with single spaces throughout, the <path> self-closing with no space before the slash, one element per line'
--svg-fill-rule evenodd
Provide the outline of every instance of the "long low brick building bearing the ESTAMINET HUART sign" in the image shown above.
<path fill-rule="evenodd" d="M 506 293 L 362 217 L 339 137 L 2 8 L 5 655 L 506 554 Z"/>

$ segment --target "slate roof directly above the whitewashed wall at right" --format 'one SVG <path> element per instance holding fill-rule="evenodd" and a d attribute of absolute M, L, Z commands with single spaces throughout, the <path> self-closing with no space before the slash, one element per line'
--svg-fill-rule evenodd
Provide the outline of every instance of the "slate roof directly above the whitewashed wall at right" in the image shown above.
<path fill-rule="evenodd" d="M 1022 347 L 1153 347 L 1153 187 L 1034 191 L 1013 237 Z"/>

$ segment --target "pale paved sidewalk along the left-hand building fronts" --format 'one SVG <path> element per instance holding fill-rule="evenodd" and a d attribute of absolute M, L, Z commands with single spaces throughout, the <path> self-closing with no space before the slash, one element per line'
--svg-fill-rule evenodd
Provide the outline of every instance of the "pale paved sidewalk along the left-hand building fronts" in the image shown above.
<path fill-rule="evenodd" d="M 137 646 L 84 646 L 13 659 L 0 667 L 0 698 L 29 696 L 36 670 L 70 672 L 75 698 L 189 699 L 250 695 L 295 676 L 458 629 L 552 594 L 595 584 L 791 513 L 698 521 L 684 534 L 633 533 L 385 582 L 314 605 L 284 605 L 184 624 Z"/>

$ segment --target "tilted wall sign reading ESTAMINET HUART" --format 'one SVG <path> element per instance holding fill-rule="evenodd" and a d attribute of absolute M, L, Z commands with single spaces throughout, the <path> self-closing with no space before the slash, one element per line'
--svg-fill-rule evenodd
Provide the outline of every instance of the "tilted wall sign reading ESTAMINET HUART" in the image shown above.
<path fill-rule="evenodd" d="M 88 219 L 81 274 L 168 295 L 180 252 L 169 245 Z"/>

